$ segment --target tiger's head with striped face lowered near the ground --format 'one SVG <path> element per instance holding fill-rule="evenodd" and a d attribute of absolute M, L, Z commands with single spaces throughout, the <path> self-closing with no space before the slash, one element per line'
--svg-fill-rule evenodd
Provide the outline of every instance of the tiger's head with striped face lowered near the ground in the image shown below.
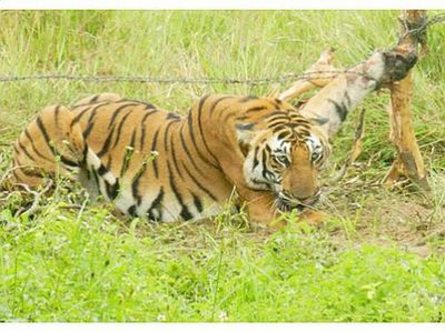
<path fill-rule="evenodd" d="M 273 191 L 283 212 L 314 205 L 320 195 L 319 170 L 330 154 L 328 139 L 296 110 L 274 111 L 237 124 L 249 188 Z"/>

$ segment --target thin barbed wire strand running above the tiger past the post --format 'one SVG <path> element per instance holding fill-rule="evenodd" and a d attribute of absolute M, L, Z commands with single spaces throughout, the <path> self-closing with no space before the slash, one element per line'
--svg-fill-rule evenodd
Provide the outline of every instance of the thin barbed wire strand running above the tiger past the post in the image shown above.
<path fill-rule="evenodd" d="M 407 37 L 418 37 L 426 33 L 426 29 L 431 26 L 445 21 L 445 13 L 435 14 L 432 18 L 425 18 L 419 27 L 409 29 L 399 40 Z M 141 76 L 96 76 L 96 74 L 69 74 L 69 73 L 40 73 L 30 76 L 0 76 L 0 83 L 22 82 L 22 81 L 82 81 L 91 83 L 109 83 L 109 82 L 130 82 L 130 83 L 157 83 L 157 84 L 246 84 L 246 85 L 266 85 L 270 83 L 286 83 L 296 80 L 314 80 L 319 78 L 335 78 L 342 73 L 355 73 L 367 77 L 364 72 L 353 70 L 336 71 L 310 71 L 305 73 L 287 73 L 271 78 L 180 78 L 180 77 L 141 77 Z"/>

